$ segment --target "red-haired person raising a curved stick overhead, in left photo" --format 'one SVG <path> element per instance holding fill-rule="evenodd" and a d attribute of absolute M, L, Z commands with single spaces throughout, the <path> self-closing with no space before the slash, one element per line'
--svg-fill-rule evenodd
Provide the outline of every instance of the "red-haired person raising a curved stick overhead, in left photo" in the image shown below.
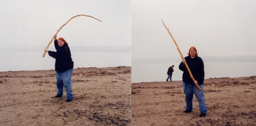
<path fill-rule="evenodd" d="M 63 87 L 65 87 L 67 97 L 66 102 L 70 102 L 73 100 L 71 76 L 73 73 L 74 62 L 72 61 L 67 42 L 63 38 L 57 40 L 56 34 L 54 36 L 54 46 L 57 51 L 49 51 L 47 48 L 45 48 L 45 51 L 48 52 L 49 56 L 56 59 L 55 71 L 58 92 L 55 97 L 62 97 Z"/>

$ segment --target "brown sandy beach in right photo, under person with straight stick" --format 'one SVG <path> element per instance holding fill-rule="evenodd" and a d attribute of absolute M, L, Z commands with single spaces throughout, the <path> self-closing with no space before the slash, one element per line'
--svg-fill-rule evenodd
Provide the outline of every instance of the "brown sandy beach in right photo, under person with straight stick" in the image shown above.
<path fill-rule="evenodd" d="M 256 76 L 204 81 L 207 115 L 186 109 L 182 81 L 132 83 L 132 126 L 256 126 Z"/>

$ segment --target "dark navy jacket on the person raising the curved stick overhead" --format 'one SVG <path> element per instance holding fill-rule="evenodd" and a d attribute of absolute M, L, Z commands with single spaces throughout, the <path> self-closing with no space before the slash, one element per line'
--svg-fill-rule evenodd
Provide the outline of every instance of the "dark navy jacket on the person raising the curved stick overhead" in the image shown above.
<path fill-rule="evenodd" d="M 64 72 L 74 67 L 74 62 L 71 58 L 69 47 L 64 44 L 62 47 L 58 45 L 58 40 L 54 41 L 56 52 L 48 51 L 49 56 L 55 60 L 55 70 L 57 72 Z"/>

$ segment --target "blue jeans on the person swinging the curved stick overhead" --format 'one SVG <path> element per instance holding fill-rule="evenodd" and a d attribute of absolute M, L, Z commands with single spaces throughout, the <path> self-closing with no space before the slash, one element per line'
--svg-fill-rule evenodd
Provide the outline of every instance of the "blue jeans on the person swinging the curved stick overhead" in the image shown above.
<path fill-rule="evenodd" d="M 64 72 L 57 72 L 56 71 L 56 78 L 57 78 L 57 88 L 58 92 L 57 94 L 63 95 L 63 88 L 65 87 L 66 90 L 66 97 L 73 100 L 73 94 L 72 94 L 72 82 L 71 82 L 71 76 L 73 73 L 73 68 L 66 70 Z"/>

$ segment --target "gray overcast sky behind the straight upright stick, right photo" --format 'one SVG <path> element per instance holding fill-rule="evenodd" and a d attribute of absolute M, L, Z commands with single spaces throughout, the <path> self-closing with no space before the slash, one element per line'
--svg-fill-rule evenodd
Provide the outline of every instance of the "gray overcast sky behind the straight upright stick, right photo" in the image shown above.
<path fill-rule="evenodd" d="M 132 63 L 184 57 L 255 55 L 256 0 L 132 0 Z"/>

